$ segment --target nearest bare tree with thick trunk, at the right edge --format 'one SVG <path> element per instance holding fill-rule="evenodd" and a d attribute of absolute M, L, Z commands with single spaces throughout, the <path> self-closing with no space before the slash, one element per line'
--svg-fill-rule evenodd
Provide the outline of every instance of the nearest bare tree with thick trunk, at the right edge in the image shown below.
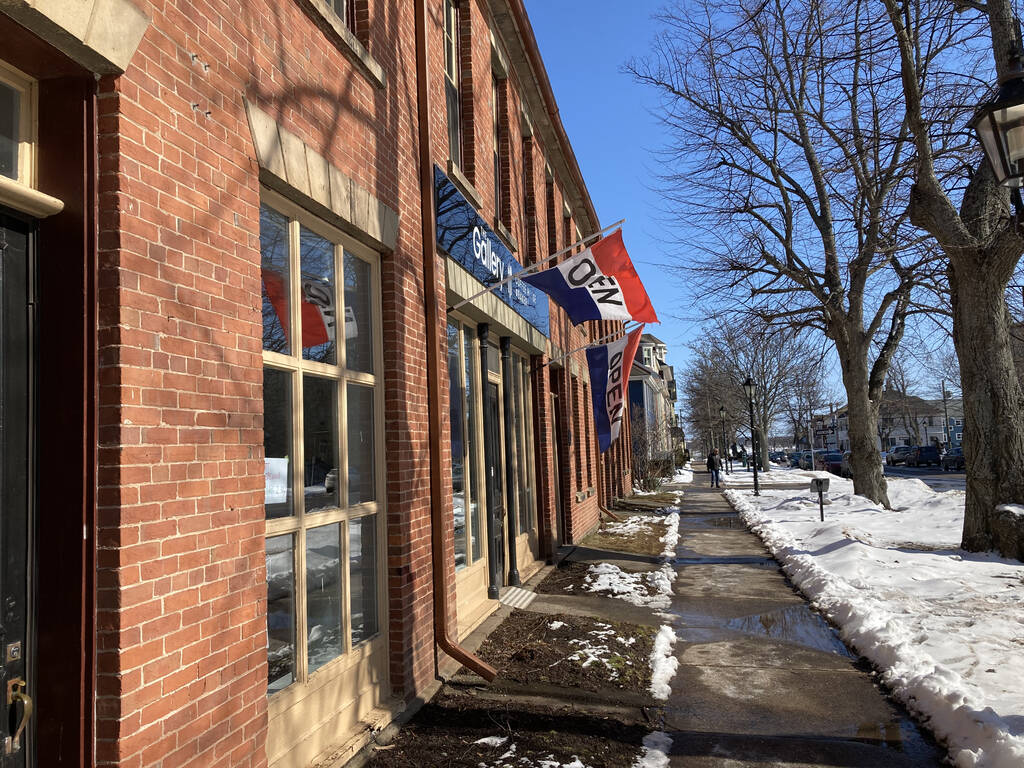
<path fill-rule="evenodd" d="M 943 177 L 936 145 L 946 140 L 945 126 L 929 120 L 937 94 L 932 81 L 922 77 L 931 62 L 923 60 L 919 46 L 923 37 L 953 24 L 954 11 L 977 13 L 987 27 L 995 74 L 1002 81 L 1019 66 L 1018 20 L 1010 0 L 883 4 L 898 44 L 904 119 L 914 139 L 910 220 L 935 239 L 947 259 L 965 417 L 963 547 L 994 546 L 1020 556 L 1021 526 L 1015 532 L 1009 532 L 1013 526 L 998 526 L 1008 531 L 999 535 L 993 523 L 1000 504 L 1024 501 L 1024 391 L 1014 366 L 1007 306 L 1007 288 L 1024 254 L 1024 238 L 1018 217 L 1011 213 L 1010 189 L 996 184 L 992 169 L 977 153 L 974 167 L 966 169 L 966 187 L 957 188 L 953 179 Z M 922 7 L 925 13 L 918 12 Z M 962 59 L 970 52 L 962 51 Z M 1015 200 L 1019 209 L 1020 197 Z"/>

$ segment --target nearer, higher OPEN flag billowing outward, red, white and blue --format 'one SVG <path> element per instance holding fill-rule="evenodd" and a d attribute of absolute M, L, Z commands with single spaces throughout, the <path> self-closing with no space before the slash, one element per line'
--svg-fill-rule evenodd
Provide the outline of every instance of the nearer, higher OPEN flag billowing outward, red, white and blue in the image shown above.
<path fill-rule="evenodd" d="M 657 323 L 623 245 L 622 229 L 557 266 L 524 274 L 521 280 L 554 299 L 574 326 L 595 319 Z"/>

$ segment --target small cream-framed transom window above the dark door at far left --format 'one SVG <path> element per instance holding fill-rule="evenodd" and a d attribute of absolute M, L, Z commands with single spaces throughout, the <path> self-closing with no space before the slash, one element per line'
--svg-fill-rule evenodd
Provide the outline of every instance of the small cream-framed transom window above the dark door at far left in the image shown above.
<path fill-rule="evenodd" d="M 0 176 L 35 186 L 36 81 L 0 61 Z"/>

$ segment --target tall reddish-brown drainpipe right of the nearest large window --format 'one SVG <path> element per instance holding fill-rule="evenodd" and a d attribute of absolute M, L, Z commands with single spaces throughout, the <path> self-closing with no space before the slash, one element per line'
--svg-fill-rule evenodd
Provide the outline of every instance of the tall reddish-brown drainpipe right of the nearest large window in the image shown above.
<path fill-rule="evenodd" d="M 427 82 L 427 9 L 416 0 L 416 90 L 420 136 L 420 218 L 423 229 L 423 304 L 427 341 L 427 422 L 430 435 L 430 559 L 433 564 L 434 642 L 487 682 L 498 671 L 460 646 L 449 634 L 449 582 L 444 542 L 444 504 L 441 497 L 440 317 L 437 312 L 437 232 L 434 221 L 434 180 L 430 151 L 430 88 Z"/>

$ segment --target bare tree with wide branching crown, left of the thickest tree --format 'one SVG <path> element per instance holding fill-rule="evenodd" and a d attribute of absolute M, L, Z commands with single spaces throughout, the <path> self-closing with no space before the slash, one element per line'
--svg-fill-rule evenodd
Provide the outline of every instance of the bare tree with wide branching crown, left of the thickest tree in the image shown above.
<path fill-rule="evenodd" d="M 831 341 L 854 488 L 888 505 L 879 402 L 933 254 L 905 233 L 910 134 L 892 32 L 871 7 L 677 5 L 653 53 L 629 69 L 664 96 L 669 200 L 707 224 L 710 254 L 686 265 L 706 295 Z M 932 55 L 946 40 L 919 42 Z"/>

